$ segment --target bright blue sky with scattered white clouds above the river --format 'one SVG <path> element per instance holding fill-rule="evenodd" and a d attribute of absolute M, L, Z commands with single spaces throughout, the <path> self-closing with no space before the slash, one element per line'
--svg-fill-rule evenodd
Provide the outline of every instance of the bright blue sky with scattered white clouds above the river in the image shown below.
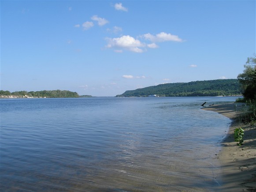
<path fill-rule="evenodd" d="M 2 90 L 115 96 L 237 78 L 256 53 L 255 0 L 1 0 Z"/>

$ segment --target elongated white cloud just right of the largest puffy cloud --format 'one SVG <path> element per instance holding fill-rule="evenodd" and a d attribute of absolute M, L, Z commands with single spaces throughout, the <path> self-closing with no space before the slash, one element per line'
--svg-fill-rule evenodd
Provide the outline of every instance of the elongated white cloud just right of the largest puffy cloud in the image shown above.
<path fill-rule="evenodd" d="M 146 40 L 152 41 L 152 42 L 164 42 L 164 41 L 177 41 L 182 42 L 183 40 L 179 38 L 177 35 L 172 35 L 171 33 L 158 33 L 156 35 L 152 35 L 150 33 L 142 35 Z"/>

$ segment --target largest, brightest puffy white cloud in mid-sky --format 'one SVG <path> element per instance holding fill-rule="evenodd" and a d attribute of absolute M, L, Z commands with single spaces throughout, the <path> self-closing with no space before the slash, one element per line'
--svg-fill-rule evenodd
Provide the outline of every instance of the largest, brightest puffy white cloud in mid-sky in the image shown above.
<path fill-rule="evenodd" d="M 141 41 L 134 39 L 134 37 L 131 37 L 129 35 L 124 35 L 122 37 L 112 39 L 107 38 L 107 40 L 107 48 L 123 48 L 137 53 L 144 52 L 144 50 L 142 50 L 141 47 L 145 47 L 145 44 L 141 43 Z"/>

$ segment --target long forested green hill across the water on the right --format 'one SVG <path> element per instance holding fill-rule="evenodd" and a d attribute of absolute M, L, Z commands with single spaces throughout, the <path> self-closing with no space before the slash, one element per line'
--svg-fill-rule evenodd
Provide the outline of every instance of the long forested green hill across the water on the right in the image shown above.
<path fill-rule="evenodd" d="M 218 79 L 210 81 L 192 81 L 189 83 L 167 83 L 142 89 L 130 90 L 117 97 L 156 96 L 230 96 L 241 95 L 237 79 Z"/>

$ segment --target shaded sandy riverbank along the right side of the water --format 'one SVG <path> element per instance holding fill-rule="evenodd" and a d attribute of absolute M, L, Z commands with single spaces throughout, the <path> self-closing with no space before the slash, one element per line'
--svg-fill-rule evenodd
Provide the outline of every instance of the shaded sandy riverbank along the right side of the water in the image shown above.
<path fill-rule="evenodd" d="M 216 154 L 221 162 L 222 177 L 217 178 L 221 191 L 256 191 L 256 125 L 244 124 L 236 118 L 243 103 L 229 103 L 203 108 L 218 112 L 232 120 L 230 129 L 222 141 L 222 151 Z M 234 129 L 245 130 L 244 144 L 237 146 Z"/>

